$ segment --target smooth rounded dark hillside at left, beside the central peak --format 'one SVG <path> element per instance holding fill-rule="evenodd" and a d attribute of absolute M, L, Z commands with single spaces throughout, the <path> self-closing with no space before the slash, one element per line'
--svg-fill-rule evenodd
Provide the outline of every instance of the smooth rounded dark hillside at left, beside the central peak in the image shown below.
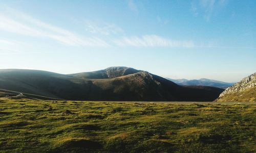
<path fill-rule="evenodd" d="M 0 70 L 0 89 L 61 99 L 82 99 L 82 79 L 40 70 Z"/>

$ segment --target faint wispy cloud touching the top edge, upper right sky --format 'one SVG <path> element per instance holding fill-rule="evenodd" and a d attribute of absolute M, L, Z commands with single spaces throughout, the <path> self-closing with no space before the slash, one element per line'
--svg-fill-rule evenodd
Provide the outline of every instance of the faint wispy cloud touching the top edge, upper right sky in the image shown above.
<path fill-rule="evenodd" d="M 212 14 L 227 5 L 227 3 L 227 0 L 196 0 L 191 3 L 190 10 L 194 16 L 202 13 L 204 18 L 209 21 Z"/>

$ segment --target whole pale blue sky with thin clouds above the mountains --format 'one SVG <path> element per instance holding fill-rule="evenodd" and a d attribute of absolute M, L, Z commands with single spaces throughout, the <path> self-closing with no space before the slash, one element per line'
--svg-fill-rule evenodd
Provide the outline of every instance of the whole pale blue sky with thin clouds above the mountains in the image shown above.
<path fill-rule="evenodd" d="M 238 82 L 256 72 L 255 14 L 253 0 L 0 0 L 0 69 Z"/>

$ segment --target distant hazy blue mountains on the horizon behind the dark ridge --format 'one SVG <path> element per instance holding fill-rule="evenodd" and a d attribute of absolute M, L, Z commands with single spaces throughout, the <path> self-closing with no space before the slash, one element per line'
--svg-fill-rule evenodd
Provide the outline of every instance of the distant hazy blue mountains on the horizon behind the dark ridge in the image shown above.
<path fill-rule="evenodd" d="M 211 86 L 211 87 L 217 87 L 217 88 L 222 88 L 222 89 L 226 89 L 230 86 L 233 85 L 233 83 L 226 83 L 226 82 L 221 82 L 221 81 L 217 81 L 217 80 L 210 80 L 210 79 L 199 79 L 199 80 L 186 80 L 186 79 L 170 79 L 170 78 L 166 78 L 178 85 L 181 86 Z"/>

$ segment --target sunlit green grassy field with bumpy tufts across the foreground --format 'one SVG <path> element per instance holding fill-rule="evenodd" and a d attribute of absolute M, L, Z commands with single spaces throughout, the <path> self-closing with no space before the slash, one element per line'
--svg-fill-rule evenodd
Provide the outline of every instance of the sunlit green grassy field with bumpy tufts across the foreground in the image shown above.
<path fill-rule="evenodd" d="M 256 152 L 256 105 L 0 99 L 0 152 Z"/>

